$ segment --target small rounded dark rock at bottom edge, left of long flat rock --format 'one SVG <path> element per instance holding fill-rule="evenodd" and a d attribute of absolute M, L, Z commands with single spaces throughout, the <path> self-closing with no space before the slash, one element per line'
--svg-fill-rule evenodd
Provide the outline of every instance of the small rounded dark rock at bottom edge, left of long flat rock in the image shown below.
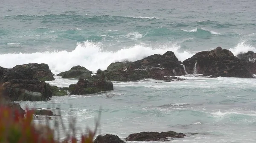
<path fill-rule="evenodd" d="M 94 143 L 125 143 L 117 135 L 106 134 L 104 136 L 98 135 L 94 140 Z"/>

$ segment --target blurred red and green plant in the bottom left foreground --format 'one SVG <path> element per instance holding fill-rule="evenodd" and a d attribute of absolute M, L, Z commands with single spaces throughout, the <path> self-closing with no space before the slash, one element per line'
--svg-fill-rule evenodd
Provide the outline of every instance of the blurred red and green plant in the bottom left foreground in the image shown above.
<path fill-rule="evenodd" d="M 2 86 L 0 85 L 0 87 Z M 0 88 L 0 92 L 1 90 Z M 99 125 L 99 120 L 96 120 L 94 131 L 88 129 L 86 134 L 77 139 L 74 133 L 74 122 L 70 123 L 72 131 L 65 131 L 66 138 L 64 141 L 60 141 L 59 138 L 55 139 L 54 129 L 49 127 L 48 119 L 47 125 L 35 124 L 33 123 L 33 114 L 34 112 L 27 108 L 26 117 L 24 118 L 24 115 L 18 109 L 6 106 L 0 94 L 0 143 L 93 143 Z M 64 129 L 62 118 L 61 125 Z"/>

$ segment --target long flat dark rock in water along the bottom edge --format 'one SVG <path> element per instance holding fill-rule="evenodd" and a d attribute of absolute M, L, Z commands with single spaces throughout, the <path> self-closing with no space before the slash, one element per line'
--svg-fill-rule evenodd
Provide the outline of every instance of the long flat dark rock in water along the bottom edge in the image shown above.
<path fill-rule="evenodd" d="M 170 141 L 167 137 L 182 138 L 186 135 L 173 131 L 169 132 L 140 132 L 130 134 L 125 138 L 126 141 Z"/>

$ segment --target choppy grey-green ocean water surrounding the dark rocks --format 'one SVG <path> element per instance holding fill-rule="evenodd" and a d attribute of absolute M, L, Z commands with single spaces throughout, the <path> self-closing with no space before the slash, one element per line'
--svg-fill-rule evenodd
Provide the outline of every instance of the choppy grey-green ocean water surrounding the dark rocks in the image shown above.
<path fill-rule="evenodd" d="M 80 65 L 96 72 L 168 50 L 180 61 L 218 46 L 234 55 L 256 52 L 255 7 L 254 0 L 1 0 L 0 66 L 46 63 L 58 74 Z M 47 83 L 78 81 L 55 78 Z M 256 79 L 182 78 L 113 81 L 111 92 L 19 103 L 59 105 L 64 120 L 75 116 L 81 129 L 93 128 L 102 107 L 100 133 L 120 138 L 173 130 L 187 135 L 173 143 L 256 142 Z"/>

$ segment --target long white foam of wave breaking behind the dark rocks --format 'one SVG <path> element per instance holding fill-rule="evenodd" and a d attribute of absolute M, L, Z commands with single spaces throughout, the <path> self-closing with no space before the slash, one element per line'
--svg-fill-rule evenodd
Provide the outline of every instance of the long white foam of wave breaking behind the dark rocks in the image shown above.
<path fill-rule="evenodd" d="M 151 48 L 145 45 L 134 45 L 115 52 L 102 51 L 101 43 L 86 41 L 78 43 L 76 49 L 71 52 L 53 51 L 43 53 L 7 53 L 0 55 L 0 66 L 12 68 L 18 64 L 46 63 L 52 73 L 60 73 L 70 70 L 71 67 L 81 65 L 88 70 L 97 71 L 99 68 L 105 70 L 112 62 L 124 60 L 136 61 L 153 54 L 163 54 L 170 50 L 175 53 L 181 61 L 192 56 L 189 52 L 178 52 L 178 45 L 163 45 L 159 48 Z"/>

